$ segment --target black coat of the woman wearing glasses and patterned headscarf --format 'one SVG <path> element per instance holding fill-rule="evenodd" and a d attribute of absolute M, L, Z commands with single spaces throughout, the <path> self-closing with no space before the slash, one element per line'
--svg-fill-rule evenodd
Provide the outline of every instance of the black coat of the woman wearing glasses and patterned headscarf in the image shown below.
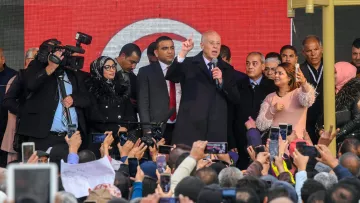
<path fill-rule="evenodd" d="M 92 77 L 86 81 L 91 98 L 91 106 L 87 109 L 90 132 L 112 131 L 113 135 L 117 135 L 119 125 L 129 129 L 123 122 L 136 121 L 136 114 L 126 94 L 129 86 L 120 83 L 120 80 L 115 81 L 115 92 L 104 81 Z"/>

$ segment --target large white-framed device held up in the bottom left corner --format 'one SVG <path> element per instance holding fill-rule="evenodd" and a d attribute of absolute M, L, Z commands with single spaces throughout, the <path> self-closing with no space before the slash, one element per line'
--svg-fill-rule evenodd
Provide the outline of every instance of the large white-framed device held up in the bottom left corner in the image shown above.
<path fill-rule="evenodd" d="M 6 194 L 11 202 L 54 203 L 58 169 L 54 163 L 10 164 L 6 181 Z"/>

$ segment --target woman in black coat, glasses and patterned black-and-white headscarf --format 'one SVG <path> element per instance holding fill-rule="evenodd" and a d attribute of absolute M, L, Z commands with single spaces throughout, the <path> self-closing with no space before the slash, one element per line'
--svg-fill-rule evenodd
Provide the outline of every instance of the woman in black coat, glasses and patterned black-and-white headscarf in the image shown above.
<path fill-rule="evenodd" d="M 130 85 L 123 78 L 117 78 L 116 62 L 110 57 L 101 56 L 93 61 L 90 74 L 91 77 L 85 82 L 91 98 L 88 110 L 89 132 L 112 131 L 114 139 L 118 140 L 118 133 L 128 130 L 128 126 L 123 123 L 136 121 L 129 98 Z M 96 146 L 99 149 L 99 145 Z"/>

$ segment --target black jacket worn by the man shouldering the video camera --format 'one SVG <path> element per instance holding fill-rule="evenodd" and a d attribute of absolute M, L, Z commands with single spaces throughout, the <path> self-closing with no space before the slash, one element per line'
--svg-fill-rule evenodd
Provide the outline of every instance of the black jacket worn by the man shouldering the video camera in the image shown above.
<path fill-rule="evenodd" d="M 27 97 L 18 115 L 20 116 L 18 126 L 20 135 L 35 138 L 45 138 L 49 135 L 59 103 L 59 88 L 56 74 L 47 75 L 46 66 L 47 64 L 33 60 L 24 72 L 24 88 L 31 96 Z M 70 70 L 65 71 L 72 85 L 71 97 L 78 117 L 78 130 L 84 137 L 86 136 L 86 123 L 83 110 L 89 106 L 90 100 L 77 73 Z"/>

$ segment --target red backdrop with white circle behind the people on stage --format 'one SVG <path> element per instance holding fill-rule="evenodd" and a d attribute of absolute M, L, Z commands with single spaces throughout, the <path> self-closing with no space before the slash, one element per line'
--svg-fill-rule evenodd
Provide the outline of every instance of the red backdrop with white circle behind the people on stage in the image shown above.
<path fill-rule="evenodd" d="M 85 71 L 100 55 L 116 57 L 129 42 L 144 51 L 137 69 L 147 65 L 146 48 L 161 35 L 172 37 L 178 51 L 193 34 L 194 55 L 201 33 L 215 30 L 241 71 L 249 52 L 279 52 L 291 43 L 284 0 L 24 0 L 24 7 L 25 50 L 49 38 L 75 45 L 78 31 L 93 37 L 83 45 Z"/>

